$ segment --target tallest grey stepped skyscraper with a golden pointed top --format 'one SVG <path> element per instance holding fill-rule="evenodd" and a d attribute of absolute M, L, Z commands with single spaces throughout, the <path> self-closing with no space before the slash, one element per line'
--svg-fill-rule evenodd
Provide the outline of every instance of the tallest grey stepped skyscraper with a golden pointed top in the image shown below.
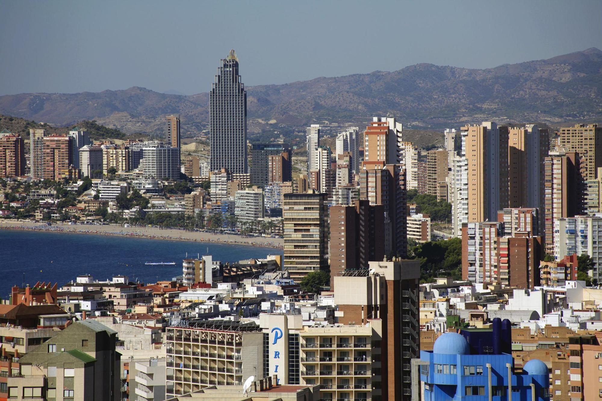
<path fill-rule="evenodd" d="M 211 171 L 247 173 L 247 92 L 238 73 L 234 50 L 220 61 L 209 92 Z"/>

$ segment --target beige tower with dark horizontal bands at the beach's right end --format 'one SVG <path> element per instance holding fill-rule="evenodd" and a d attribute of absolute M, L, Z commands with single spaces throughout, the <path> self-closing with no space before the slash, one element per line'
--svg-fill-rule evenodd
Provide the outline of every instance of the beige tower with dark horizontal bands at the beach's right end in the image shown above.
<path fill-rule="evenodd" d="M 284 269 L 296 282 L 328 268 L 326 198 L 325 193 L 284 194 Z"/>

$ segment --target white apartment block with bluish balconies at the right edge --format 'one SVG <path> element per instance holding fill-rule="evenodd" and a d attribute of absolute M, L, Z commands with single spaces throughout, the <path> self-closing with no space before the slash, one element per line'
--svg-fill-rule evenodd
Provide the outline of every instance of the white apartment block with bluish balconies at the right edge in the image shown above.
<path fill-rule="evenodd" d="M 592 278 L 600 281 L 602 270 L 602 216 L 562 217 L 554 222 L 554 258 L 586 253 L 594 260 Z"/>

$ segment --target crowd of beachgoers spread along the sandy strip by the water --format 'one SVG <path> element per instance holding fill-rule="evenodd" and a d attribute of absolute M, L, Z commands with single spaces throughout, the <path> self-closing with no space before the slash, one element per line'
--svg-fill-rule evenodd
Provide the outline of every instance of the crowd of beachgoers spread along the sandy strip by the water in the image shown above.
<path fill-rule="evenodd" d="M 15 229 L 15 230 L 28 230 L 28 231 L 47 231 L 47 232 L 67 232 L 67 233 L 81 233 L 81 234 L 101 234 L 101 235 L 125 235 L 126 237 L 138 237 L 138 238 L 150 238 L 154 240 L 178 240 L 178 241 L 194 241 L 194 242 L 212 242 L 212 243 L 220 243 L 220 244 L 241 244 L 241 245 L 253 245 L 253 246 L 261 246 L 261 247 L 270 247 L 276 249 L 283 249 L 282 244 L 275 243 L 273 241 L 253 241 L 253 240 L 232 240 L 229 238 L 221 238 L 219 234 L 215 235 L 214 238 L 211 237 L 201 237 L 201 238 L 193 238 L 193 237 L 182 237 L 182 235 L 176 237 L 173 235 L 157 235 L 154 233 L 146 233 L 140 231 L 122 231 L 122 230 L 111 230 L 104 231 L 93 228 L 74 228 L 71 226 L 56 226 L 56 225 L 10 225 L 10 226 L 0 226 L 0 228 L 5 229 Z"/>

